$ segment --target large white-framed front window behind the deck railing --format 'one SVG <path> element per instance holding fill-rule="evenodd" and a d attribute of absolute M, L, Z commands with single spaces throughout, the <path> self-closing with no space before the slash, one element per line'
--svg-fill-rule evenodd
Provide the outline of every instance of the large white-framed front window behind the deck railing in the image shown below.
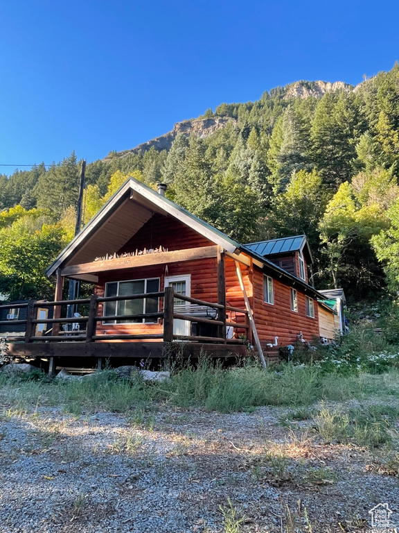
<path fill-rule="evenodd" d="M 159 278 L 148 280 L 115 281 L 105 284 L 105 296 L 130 296 L 159 291 Z M 104 316 L 124 314 L 145 314 L 158 312 L 158 298 L 139 298 L 137 300 L 121 300 L 105 302 Z M 142 324 L 154 323 L 157 319 L 118 319 L 105 320 L 105 324 Z"/>

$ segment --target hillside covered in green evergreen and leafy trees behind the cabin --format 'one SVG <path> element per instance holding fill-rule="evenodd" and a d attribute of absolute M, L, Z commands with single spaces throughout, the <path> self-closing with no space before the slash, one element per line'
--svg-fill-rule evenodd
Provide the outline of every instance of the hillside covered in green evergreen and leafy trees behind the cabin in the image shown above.
<path fill-rule="evenodd" d="M 399 65 L 353 88 L 299 82 L 222 103 L 155 145 L 87 164 L 87 222 L 128 175 L 240 242 L 308 235 L 316 287 L 354 298 L 399 289 Z M 194 121 L 195 122 L 195 121 Z M 148 149 L 148 146 L 150 148 Z M 0 176 L 0 293 L 51 296 L 43 270 L 73 237 L 80 163 Z"/>

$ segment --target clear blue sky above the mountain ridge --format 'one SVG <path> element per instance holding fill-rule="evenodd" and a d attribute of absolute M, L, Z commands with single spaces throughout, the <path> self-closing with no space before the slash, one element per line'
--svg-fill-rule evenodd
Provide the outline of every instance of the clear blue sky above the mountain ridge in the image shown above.
<path fill-rule="evenodd" d="M 89 162 L 276 85 L 360 83 L 399 60 L 398 15 L 370 0 L 2 2 L 0 163 Z"/>

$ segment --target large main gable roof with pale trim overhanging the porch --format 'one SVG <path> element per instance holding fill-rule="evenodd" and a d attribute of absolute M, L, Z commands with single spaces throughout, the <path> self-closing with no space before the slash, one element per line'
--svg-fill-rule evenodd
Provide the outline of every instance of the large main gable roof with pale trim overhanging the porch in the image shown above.
<path fill-rule="evenodd" d="M 64 248 L 46 270 L 46 276 L 53 276 L 57 269 L 67 265 L 92 261 L 96 255 L 103 255 L 105 245 L 113 246 L 113 250 L 120 249 L 154 212 L 175 217 L 211 242 L 220 245 L 225 251 L 236 254 L 237 257 L 244 252 L 252 257 L 260 268 L 265 267 L 267 271 L 274 272 L 278 277 L 288 280 L 290 285 L 301 285 L 305 291 L 310 291 L 316 298 L 324 299 L 314 287 L 267 260 L 266 257 L 254 251 L 251 245 L 245 246 L 231 239 L 222 231 L 213 228 L 211 224 L 195 217 L 177 203 L 161 196 L 154 189 L 134 178 L 127 179 L 114 196 Z M 129 218 L 129 227 L 126 226 L 123 216 Z M 305 239 L 304 235 L 301 237 Z"/>

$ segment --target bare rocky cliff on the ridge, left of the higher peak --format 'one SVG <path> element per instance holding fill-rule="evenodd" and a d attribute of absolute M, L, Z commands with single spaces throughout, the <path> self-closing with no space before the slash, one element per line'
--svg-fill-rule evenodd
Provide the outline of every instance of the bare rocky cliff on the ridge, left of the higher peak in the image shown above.
<path fill-rule="evenodd" d="M 183 122 L 177 122 L 172 131 L 169 131 L 168 133 L 165 133 L 160 137 L 155 137 L 150 141 L 143 142 L 142 144 L 139 144 L 139 146 L 136 146 L 131 150 L 118 152 L 117 155 L 118 157 L 124 158 L 130 153 L 146 152 L 150 150 L 152 146 L 154 146 L 154 149 L 156 149 L 157 151 L 169 150 L 170 146 L 172 146 L 172 142 L 175 140 L 176 136 L 179 133 L 181 133 L 182 135 L 186 135 L 186 137 L 189 137 L 193 133 L 193 135 L 197 135 L 197 137 L 205 139 L 216 130 L 224 128 L 224 126 L 226 126 L 226 124 L 228 124 L 229 122 L 233 122 L 234 124 L 236 124 L 236 119 L 232 119 L 230 117 L 214 117 L 209 119 L 190 119 L 184 120 Z M 103 161 L 107 160 L 109 160 L 108 157 L 105 158 Z"/>

